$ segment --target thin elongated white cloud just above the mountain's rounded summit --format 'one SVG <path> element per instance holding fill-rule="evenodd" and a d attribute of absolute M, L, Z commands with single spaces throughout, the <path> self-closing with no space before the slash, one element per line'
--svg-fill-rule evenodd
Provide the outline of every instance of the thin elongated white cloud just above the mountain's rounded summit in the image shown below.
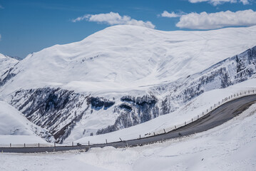
<path fill-rule="evenodd" d="M 144 26 L 148 28 L 155 28 L 150 21 L 139 21 L 135 19 L 131 19 L 130 16 L 120 16 L 118 13 L 110 12 L 107 14 L 86 14 L 84 16 L 79 16 L 76 19 L 73 19 L 72 22 L 77 21 L 94 21 L 103 24 L 109 24 L 111 26 L 118 24 L 127 24 L 127 25 L 135 25 L 135 26 Z"/>

